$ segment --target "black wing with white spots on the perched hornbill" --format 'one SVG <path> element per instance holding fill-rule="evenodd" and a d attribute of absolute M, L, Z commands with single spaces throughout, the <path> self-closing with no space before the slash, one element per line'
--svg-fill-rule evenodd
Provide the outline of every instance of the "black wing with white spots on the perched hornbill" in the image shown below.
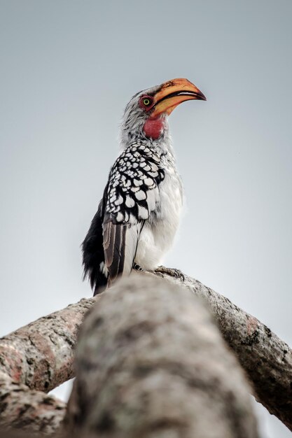
<path fill-rule="evenodd" d="M 139 234 L 159 201 L 159 184 L 164 176 L 160 157 L 143 143 L 128 146 L 113 164 L 103 222 L 110 282 L 132 270 Z"/>

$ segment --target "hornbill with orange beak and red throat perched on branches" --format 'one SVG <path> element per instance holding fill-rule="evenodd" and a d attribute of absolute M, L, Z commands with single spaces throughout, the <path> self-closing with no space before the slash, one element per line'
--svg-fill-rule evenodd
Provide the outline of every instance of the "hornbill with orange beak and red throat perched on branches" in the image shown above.
<path fill-rule="evenodd" d="M 161 265 L 183 206 L 168 116 L 188 100 L 206 97 L 189 80 L 175 78 L 134 94 L 125 107 L 120 155 L 81 245 L 94 295 L 132 269 L 179 275 Z"/>

